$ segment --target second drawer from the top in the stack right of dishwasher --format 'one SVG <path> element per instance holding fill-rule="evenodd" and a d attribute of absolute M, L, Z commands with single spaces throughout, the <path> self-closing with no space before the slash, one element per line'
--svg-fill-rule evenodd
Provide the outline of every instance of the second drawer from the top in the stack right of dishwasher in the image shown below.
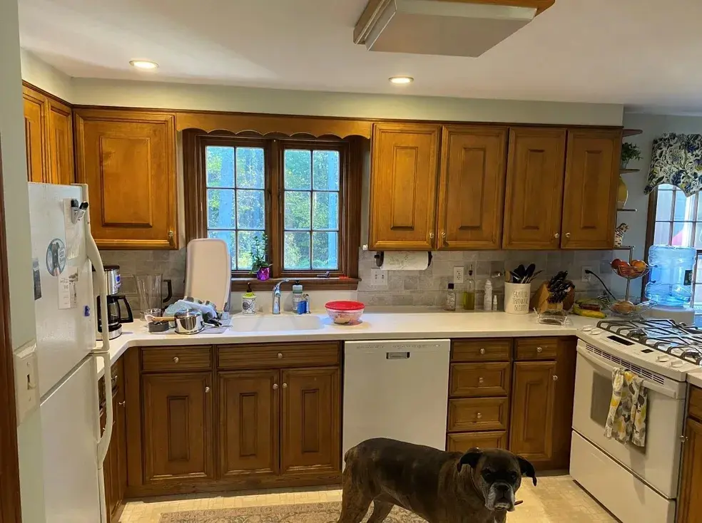
<path fill-rule="evenodd" d="M 484 398 L 509 393 L 510 363 L 452 363 L 449 395 Z"/>

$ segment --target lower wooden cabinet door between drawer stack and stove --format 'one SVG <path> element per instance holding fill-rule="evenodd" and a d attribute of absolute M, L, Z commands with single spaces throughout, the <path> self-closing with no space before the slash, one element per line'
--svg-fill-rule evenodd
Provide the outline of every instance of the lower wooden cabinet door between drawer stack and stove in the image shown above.
<path fill-rule="evenodd" d="M 514 363 L 509 450 L 529 461 L 553 456 L 555 361 Z"/>

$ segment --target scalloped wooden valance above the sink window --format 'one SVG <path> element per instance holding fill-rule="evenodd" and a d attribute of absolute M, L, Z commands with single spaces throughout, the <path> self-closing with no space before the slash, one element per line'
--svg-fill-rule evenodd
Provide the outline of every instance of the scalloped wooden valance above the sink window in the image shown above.
<path fill-rule="evenodd" d="M 262 136 L 283 134 L 286 136 L 336 136 L 348 138 L 362 136 L 369 138 L 373 123 L 371 120 L 351 120 L 347 118 L 327 118 L 322 116 L 266 115 L 254 113 L 175 113 L 175 128 L 203 130 L 212 133 L 225 130 L 230 133 L 258 133 Z"/>

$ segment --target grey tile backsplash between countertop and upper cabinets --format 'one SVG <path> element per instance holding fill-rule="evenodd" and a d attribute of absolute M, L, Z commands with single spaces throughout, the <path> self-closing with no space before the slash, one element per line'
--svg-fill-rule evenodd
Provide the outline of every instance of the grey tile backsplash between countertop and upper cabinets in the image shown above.
<path fill-rule="evenodd" d="M 536 270 L 543 270 L 531 284 L 531 291 L 536 291 L 542 281 L 548 280 L 558 271 L 568 271 L 569 278 L 576 285 L 576 293 L 598 296 L 602 286 L 594 278 L 592 281 L 581 280 L 583 267 L 590 267 L 607 286 L 611 287 L 614 275 L 609 262 L 615 257 L 611 251 L 466 251 L 435 252 L 432 264 L 424 271 L 387 271 L 387 289 L 377 289 L 370 285 L 371 270 L 375 267 L 375 252 L 360 251 L 359 275 L 362 281 L 358 286 L 357 299 L 367 306 L 442 306 L 447 286 L 453 281 L 454 267 L 463 266 L 465 274 L 473 266 L 476 281 L 476 308 L 482 308 L 482 296 L 485 280 L 489 274 L 505 268 L 514 269 L 519 264 L 525 266 L 534 263 Z M 102 251 L 105 264 L 117 264 L 121 269 L 122 294 L 125 294 L 132 309 L 141 310 L 136 291 L 136 274 L 161 273 L 163 278 L 173 282 L 173 301 L 183 296 L 185 288 L 185 249 L 178 251 Z M 502 278 L 494 278 L 494 294 L 498 296 L 502 309 L 504 284 Z M 463 291 L 463 285 L 457 284 L 457 292 Z M 315 299 L 310 292 L 312 307 L 319 310 L 323 302 L 332 299 L 330 291 Z M 341 293 L 339 293 L 341 295 Z M 342 293 L 345 299 L 352 298 L 348 292 Z M 458 302 L 460 303 L 460 302 Z M 240 309 L 240 295 L 232 296 L 233 311 Z"/>

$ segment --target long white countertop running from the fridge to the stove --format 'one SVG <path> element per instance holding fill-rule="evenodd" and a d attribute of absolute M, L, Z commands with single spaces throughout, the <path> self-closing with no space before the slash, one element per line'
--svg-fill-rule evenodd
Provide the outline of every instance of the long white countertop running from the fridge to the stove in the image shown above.
<path fill-rule="evenodd" d="M 184 336 L 170 333 L 148 333 L 146 323 L 135 320 L 122 326 L 123 333 L 110 341 L 111 362 L 130 347 L 174 345 L 223 345 L 231 343 L 270 343 L 285 341 L 325 340 L 390 340 L 432 338 L 477 338 L 517 336 L 576 336 L 578 328 L 594 325 L 598 320 L 569 316 L 566 326 L 537 323 L 536 314 L 515 315 L 504 312 L 422 312 L 422 313 L 372 313 L 364 314 L 362 323 L 354 326 L 335 325 L 326 316 L 322 328 L 308 331 L 238 332 L 228 329 L 225 333 L 199 333 Z M 233 316 L 236 321 L 237 316 Z M 100 346 L 101 343 L 98 343 Z M 102 361 L 98 360 L 98 376 L 103 374 Z"/>

